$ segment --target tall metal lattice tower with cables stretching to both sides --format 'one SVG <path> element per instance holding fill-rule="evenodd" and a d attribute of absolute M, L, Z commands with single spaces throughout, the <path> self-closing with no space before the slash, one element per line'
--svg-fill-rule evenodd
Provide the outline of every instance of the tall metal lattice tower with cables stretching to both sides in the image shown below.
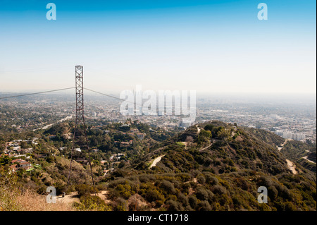
<path fill-rule="evenodd" d="M 70 150 L 70 169 L 68 174 L 68 183 L 70 183 L 70 174 L 72 169 L 72 162 L 74 157 L 82 157 L 83 152 L 88 152 L 88 163 L 90 166 L 90 172 L 92 175 L 92 184 L 94 186 L 94 176 L 92 174 L 92 164 L 90 160 L 90 151 L 87 140 L 87 128 L 85 125 L 85 114 L 84 114 L 84 70 L 83 66 L 75 66 L 75 90 L 76 90 L 76 118 L 75 128 L 73 133 L 73 147 Z"/>

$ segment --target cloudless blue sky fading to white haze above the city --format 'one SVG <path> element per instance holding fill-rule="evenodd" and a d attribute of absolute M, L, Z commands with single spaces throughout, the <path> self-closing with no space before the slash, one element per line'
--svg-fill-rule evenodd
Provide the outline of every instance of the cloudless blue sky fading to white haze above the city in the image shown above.
<path fill-rule="evenodd" d="M 316 1 L 0 0 L 0 92 L 73 87 L 75 65 L 106 93 L 316 93 Z"/>

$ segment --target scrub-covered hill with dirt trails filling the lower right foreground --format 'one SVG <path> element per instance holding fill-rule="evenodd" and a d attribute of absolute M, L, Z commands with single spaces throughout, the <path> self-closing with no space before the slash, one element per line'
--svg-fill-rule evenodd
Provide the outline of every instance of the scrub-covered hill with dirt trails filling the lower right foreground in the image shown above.
<path fill-rule="evenodd" d="M 316 210 L 316 174 L 297 163 L 292 174 L 276 147 L 282 142 L 265 130 L 197 124 L 156 146 L 133 170 L 106 179 L 110 197 L 127 209 L 138 195 L 142 209 L 152 210 Z M 268 188 L 268 204 L 257 202 L 259 186 Z"/>

